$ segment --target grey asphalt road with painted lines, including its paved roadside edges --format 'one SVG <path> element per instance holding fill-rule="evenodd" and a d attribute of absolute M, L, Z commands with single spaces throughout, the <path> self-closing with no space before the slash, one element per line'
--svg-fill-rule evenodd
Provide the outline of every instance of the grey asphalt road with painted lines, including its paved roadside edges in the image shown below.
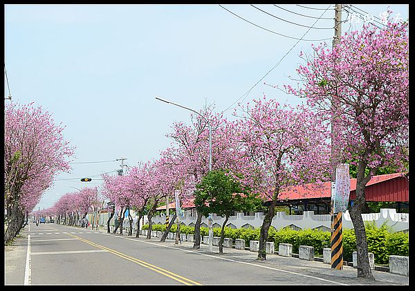
<path fill-rule="evenodd" d="M 29 223 L 5 248 L 6 285 L 409 285 L 408 277 L 373 271 L 357 279 L 355 268 L 333 270 L 317 261 L 247 250 L 160 242 L 105 230 Z"/>

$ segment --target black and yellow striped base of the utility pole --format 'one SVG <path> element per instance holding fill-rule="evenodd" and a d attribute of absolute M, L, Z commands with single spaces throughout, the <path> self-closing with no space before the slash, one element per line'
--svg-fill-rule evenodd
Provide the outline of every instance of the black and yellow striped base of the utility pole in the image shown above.
<path fill-rule="evenodd" d="M 331 222 L 331 268 L 343 270 L 342 212 L 333 214 Z"/>

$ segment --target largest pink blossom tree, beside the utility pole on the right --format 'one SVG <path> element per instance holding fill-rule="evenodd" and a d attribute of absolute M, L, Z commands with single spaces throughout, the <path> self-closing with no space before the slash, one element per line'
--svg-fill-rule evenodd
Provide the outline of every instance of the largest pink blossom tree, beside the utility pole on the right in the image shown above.
<path fill-rule="evenodd" d="M 313 47 L 297 72 L 302 86 L 288 92 L 333 119 L 333 145 L 341 161 L 356 161 L 356 200 L 350 214 L 356 233 L 358 277 L 374 279 L 369 266 L 362 208 L 365 185 L 378 168 L 408 161 L 408 23 L 365 25 L 345 33 L 333 49 Z M 335 106 L 333 106 L 333 104 Z M 369 170 L 365 174 L 365 170 Z"/>

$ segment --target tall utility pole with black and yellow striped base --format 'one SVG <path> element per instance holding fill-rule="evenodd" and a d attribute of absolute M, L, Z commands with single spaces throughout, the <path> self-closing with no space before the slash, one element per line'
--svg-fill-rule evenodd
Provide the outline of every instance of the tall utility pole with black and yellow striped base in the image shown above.
<path fill-rule="evenodd" d="M 335 4 L 333 50 L 340 43 L 342 36 L 342 4 Z M 334 212 L 335 199 L 335 172 L 339 164 L 339 149 L 336 140 L 338 126 L 335 124 L 335 112 L 338 108 L 338 100 L 331 97 L 331 268 L 343 269 L 343 245 L 342 245 L 342 212 Z"/>

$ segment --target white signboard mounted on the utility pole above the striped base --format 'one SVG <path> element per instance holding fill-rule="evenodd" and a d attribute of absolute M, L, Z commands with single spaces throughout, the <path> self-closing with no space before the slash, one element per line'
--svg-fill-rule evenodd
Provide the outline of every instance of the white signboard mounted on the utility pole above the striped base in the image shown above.
<path fill-rule="evenodd" d="M 348 163 L 340 163 L 335 169 L 335 183 L 332 186 L 334 186 L 331 194 L 333 213 L 346 212 L 350 194 Z"/>

